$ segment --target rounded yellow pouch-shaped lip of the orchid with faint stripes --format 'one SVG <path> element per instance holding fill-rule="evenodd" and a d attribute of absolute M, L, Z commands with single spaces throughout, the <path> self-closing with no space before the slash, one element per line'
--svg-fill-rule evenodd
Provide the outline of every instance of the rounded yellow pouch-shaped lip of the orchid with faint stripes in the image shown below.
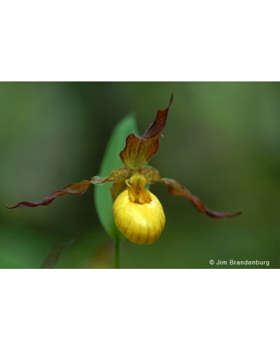
<path fill-rule="evenodd" d="M 135 244 L 152 244 L 165 227 L 162 204 L 146 186 L 146 178 L 135 173 L 126 180 L 127 187 L 113 204 L 118 230 Z"/>

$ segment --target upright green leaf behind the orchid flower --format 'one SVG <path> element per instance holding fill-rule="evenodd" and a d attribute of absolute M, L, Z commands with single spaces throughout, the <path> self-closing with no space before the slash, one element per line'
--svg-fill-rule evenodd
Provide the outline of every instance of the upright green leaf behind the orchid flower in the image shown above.
<path fill-rule="evenodd" d="M 127 135 L 131 133 L 139 135 L 136 117 L 133 112 L 127 114 L 114 128 L 102 159 L 99 176 L 109 176 L 111 171 L 124 166 L 120 159 L 120 152 L 125 147 Z M 104 230 L 106 230 L 115 241 L 120 242 L 125 239 L 125 237 L 116 227 L 113 218 L 113 201 L 110 192 L 111 186 L 112 184 L 105 183 L 104 185 L 94 187 L 94 203 Z"/>

